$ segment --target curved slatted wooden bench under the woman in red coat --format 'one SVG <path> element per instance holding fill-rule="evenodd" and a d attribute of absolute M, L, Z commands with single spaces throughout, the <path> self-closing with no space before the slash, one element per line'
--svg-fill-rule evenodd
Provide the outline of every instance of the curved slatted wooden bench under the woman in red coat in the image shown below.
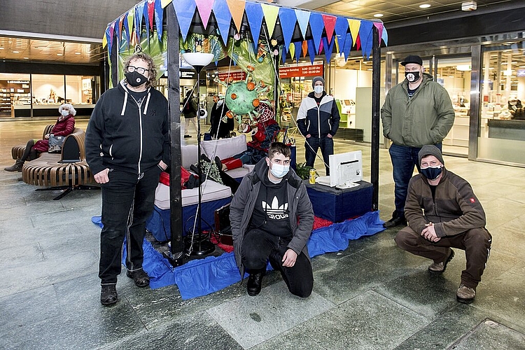
<path fill-rule="evenodd" d="M 53 200 L 59 200 L 73 190 L 99 190 L 90 167 L 85 162 L 85 132 L 75 128 L 64 140 L 61 153 L 41 153 L 39 158 L 25 162 L 22 179 L 34 186 L 51 186 L 36 190 L 62 190 Z"/>

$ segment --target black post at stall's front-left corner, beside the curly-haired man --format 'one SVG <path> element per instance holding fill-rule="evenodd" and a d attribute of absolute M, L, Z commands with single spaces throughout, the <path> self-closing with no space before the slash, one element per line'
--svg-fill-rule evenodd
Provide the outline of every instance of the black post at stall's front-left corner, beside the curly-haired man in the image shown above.
<path fill-rule="evenodd" d="M 168 111 L 170 120 L 169 208 L 171 214 L 171 248 L 167 257 L 173 266 L 183 263 L 182 194 L 181 194 L 181 93 L 179 86 L 179 22 L 173 6 L 166 7 Z"/>

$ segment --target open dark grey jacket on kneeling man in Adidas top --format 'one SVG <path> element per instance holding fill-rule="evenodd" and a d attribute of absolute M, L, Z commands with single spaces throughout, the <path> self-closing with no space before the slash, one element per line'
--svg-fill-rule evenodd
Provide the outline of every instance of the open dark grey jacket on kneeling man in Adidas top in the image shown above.
<path fill-rule="evenodd" d="M 233 248 L 241 277 L 244 277 L 244 266 L 241 260 L 242 240 L 253 214 L 262 176 L 268 176 L 268 169 L 266 158 L 260 160 L 253 171 L 244 176 L 230 204 Z M 288 211 L 290 212 L 290 228 L 292 228 L 292 240 L 288 243 L 288 248 L 295 251 L 297 255 L 303 252 L 309 258 L 307 241 L 314 227 L 314 210 L 311 207 L 306 186 L 293 169 L 290 169 L 283 181 L 287 182 Z"/>

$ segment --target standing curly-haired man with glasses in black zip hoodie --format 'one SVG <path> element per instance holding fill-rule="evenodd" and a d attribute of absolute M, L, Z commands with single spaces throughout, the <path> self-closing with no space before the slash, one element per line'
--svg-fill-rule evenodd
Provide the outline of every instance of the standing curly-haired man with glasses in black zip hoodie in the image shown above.
<path fill-rule="evenodd" d="M 168 105 L 152 87 L 155 64 L 137 52 L 126 60 L 124 73 L 125 79 L 100 97 L 85 135 L 86 160 L 102 187 L 99 278 L 104 305 L 118 300 L 124 238 L 127 276 L 139 287 L 149 285 L 142 241 L 160 172 L 169 163 Z"/>

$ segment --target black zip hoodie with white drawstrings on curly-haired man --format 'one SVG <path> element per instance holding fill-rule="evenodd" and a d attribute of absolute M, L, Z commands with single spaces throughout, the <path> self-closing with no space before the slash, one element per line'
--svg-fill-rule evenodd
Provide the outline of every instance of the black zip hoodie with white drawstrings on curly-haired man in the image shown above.
<path fill-rule="evenodd" d="M 102 94 L 85 134 L 85 158 L 92 174 L 119 169 L 140 174 L 169 164 L 167 99 L 149 87 L 137 103 L 125 80 Z"/>

